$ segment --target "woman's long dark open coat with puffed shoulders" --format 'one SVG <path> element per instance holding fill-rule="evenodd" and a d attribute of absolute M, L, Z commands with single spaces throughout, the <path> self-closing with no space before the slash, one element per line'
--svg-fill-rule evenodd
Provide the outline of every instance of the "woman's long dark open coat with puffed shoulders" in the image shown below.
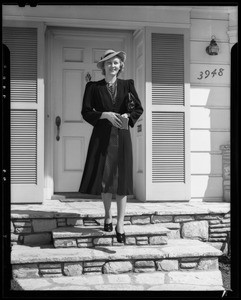
<path fill-rule="evenodd" d="M 82 181 L 79 192 L 92 195 L 102 193 L 102 179 L 110 140 L 112 124 L 107 119 L 100 119 L 102 112 L 127 113 L 126 97 L 131 92 L 135 98 L 135 108 L 130 113 L 129 126 L 141 116 L 143 108 L 132 79 L 117 79 L 115 104 L 107 90 L 105 80 L 88 82 L 84 92 L 82 115 L 84 120 L 94 126 L 89 142 Z M 118 195 L 133 194 L 133 159 L 130 129 L 118 129 Z"/>

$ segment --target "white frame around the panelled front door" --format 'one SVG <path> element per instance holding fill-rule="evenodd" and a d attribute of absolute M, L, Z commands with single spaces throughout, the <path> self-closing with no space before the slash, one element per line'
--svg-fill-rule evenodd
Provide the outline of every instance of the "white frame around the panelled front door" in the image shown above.
<path fill-rule="evenodd" d="M 68 33 L 73 37 L 80 35 L 90 35 L 90 32 L 98 32 L 103 36 L 115 38 L 117 35 L 124 40 L 124 49 L 129 53 L 129 65 L 125 69 L 125 78 L 133 78 L 134 66 L 133 66 L 133 30 L 101 30 L 91 28 L 68 28 L 68 27 L 52 27 L 47 26 L 46 28 L 46 48 L 45 48 L 45 160 L 44 160 L 44 199 L 51 199 L 54 195 L 54 138 L 55 138 L 55 112 L 54 112 L 54 95 L 53 89 L 51 88 L 51 82 L 54 74 L 53 70 L 53 44 L 56 36 L 66 36 Z M 133 133 L 131 133 L 133 135 Z M 133 143 L 135 139 L 132 139 Z M 134 145 L 133 145 L 134 146 Z"/>

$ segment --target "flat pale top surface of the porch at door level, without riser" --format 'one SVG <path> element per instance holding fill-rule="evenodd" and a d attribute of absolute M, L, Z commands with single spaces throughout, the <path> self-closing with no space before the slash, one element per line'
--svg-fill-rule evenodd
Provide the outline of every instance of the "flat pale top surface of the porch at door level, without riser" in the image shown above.
<path fill-rule="evenodd" d="M 13 204 L 11 206 L 12 218 L 22 217 L 26 214 L 28 217 L 38 217 L 44 215 L 45 218 L 59 217 L 61 214 L 71 214 L 75 217 L 104 217 L 104 207 L 101 200 L 86 199 L 76 201 L 68 199 L 68 202 L 59 200 L 46 200 L 43 204 Z M 209 214 L 209 213 L 228 213 L 230 203 L 225 202 L 127 202 L 126 216 L 128 215 L 145 215 L 145 214 Z M 117 215 L 116 203 L 112 203 L 113 216 Z"/>

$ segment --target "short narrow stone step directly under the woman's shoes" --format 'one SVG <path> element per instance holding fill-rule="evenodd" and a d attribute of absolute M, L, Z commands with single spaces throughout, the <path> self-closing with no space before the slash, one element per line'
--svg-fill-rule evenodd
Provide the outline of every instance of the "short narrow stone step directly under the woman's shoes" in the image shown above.
<path fill-rule="evenodd" d="M 162 224 L 127 225 L 125 245 L 166 245 L 169 232 Z M 123 245 L 117 242 L 115 228 L 106 232 L 103 226 L 60 227 L 52 231 L 52 237 L 55 248 Z"/>

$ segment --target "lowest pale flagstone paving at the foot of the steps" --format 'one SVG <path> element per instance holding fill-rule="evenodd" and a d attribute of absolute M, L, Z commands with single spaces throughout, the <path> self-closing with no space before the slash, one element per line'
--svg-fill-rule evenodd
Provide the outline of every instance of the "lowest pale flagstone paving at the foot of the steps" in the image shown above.
<path fill-rule="evenodd" d="M 16 279 L 23 290 L 66 291 L 223 291 L 219 271 L 92 274 Z"/>

